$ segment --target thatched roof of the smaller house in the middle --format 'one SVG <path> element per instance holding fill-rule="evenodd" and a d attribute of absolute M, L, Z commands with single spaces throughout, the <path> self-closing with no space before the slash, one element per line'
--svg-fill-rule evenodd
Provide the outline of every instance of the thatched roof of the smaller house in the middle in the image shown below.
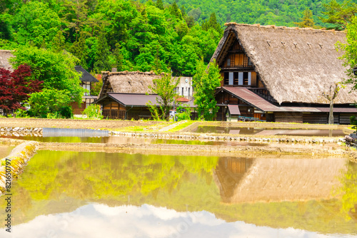
<path fill-rule="evenodd" d="M 151 93 L 149 86 L 154 78 L 161 78 L 153 72 L 102 72 L 103 87 L 99 98 L 107 92 L 114 93 Z"/>

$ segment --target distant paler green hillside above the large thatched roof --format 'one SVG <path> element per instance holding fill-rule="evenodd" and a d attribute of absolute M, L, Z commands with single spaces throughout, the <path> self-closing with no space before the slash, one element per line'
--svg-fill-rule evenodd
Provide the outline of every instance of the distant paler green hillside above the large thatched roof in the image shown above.
<path fill-rule="evenodd" d="M 143 1 L 143 0 L 141 0 Z M 147 1 L 147 0 L 144 0 Z M 151 0 L 149 0 L 151 1 Z M 162 0 L 165 4 L 174 1 L 180 9 L 184 9 L 194 21 L 203 22 L 215 13 L 218 23 L 235 21 L 245 24 L 261 24 L 276 26 L 295 26 L 293 23 L 301 21 L 303 11 L 310 9 L 313 20 L 318 26 L 324 24 L 319 17 L 325 17 L 323 5 L 331 0 Z M 342 3 L 343 0 L 337 0 Z M 351 0 L 356 3 L 356 0 Z"/>

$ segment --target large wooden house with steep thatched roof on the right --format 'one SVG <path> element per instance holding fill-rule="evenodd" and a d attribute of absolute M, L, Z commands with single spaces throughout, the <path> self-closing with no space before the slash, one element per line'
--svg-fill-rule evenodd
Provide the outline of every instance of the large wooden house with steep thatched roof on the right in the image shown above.
<path fill-rule="evenodd" d="M 346 33 L 235 23 L 226 26 L 212 57 L 223 77 L 218 103 L 240 104 L 241 115 L 263 120 L 327 122 L 323 108 L 328 108 L 328 101 L 322 93 L 346 78 L 346 68 L 338 59 L 342 52 L 336 51 L 336 43 L 346 42 Z M 357 93 L 350 90 L 351 86 L 341 89 L 334 100 L 339 112 L 348 113 L 336 123 L 348 123 L 351 110 L 357 112 L 349 106 L 357 101 Z M 225 113 L 221 108 L 222 120 Z M 310 115 L 304 120 L 303 114 Z"/>

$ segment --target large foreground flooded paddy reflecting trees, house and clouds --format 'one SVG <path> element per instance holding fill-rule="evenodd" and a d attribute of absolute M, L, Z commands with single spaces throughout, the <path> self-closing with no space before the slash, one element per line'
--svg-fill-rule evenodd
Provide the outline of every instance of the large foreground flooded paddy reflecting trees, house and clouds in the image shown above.
<path fill-rule="evenodd" d="M 11 193 L 0 237 L 357 236 L 357 165 L 336 157 L 43 150 Z"/>

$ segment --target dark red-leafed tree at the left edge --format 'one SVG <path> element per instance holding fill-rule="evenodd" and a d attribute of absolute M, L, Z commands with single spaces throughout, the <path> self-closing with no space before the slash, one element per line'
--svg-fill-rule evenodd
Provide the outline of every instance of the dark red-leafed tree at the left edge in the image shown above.
<path fill-rule="evenodd" d="M 31 68 L 21 65 L 11 72 L 0 68 L 0 108 L 7 114 L 9 110 L 26 109 L 20 103 L 30 97 L 30 93 L 40 90 L 44 81 L 30 80 Z"/>

